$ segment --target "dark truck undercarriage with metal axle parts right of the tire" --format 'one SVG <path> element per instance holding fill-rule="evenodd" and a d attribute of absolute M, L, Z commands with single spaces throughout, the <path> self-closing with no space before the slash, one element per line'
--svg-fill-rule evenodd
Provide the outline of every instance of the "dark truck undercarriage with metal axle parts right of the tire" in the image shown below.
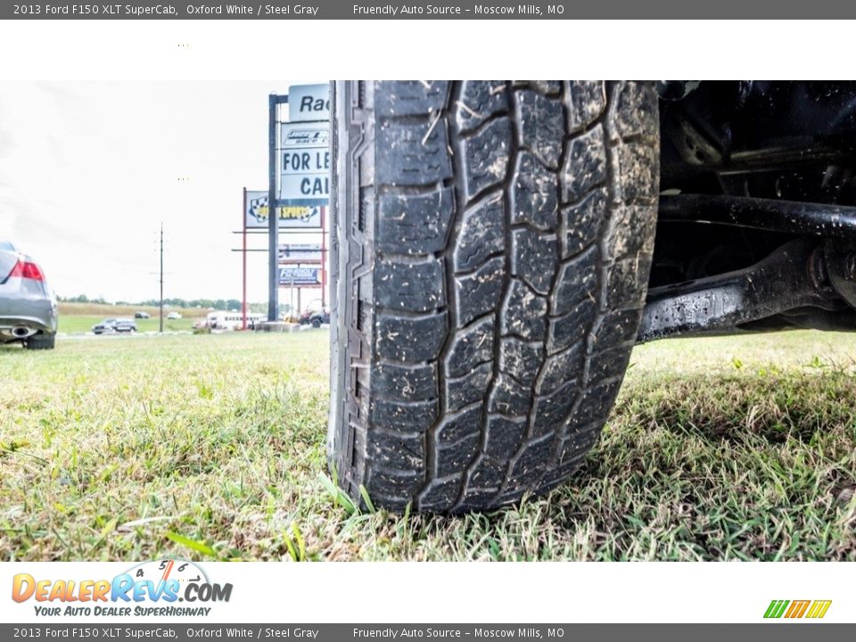
<path fill-rule="evenodd" d="M 661 196 L 638 342 L 856 329 L 856 84 L 658 90 Z"/>

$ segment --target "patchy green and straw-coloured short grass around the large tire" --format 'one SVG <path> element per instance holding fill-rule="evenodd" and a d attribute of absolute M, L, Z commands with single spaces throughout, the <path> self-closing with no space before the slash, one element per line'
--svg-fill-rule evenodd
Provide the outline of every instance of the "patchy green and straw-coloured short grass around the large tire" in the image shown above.
<path fill-rule="evenodd" d="M 0 348 L 0 558 L 856 560 L 856 335 L 640 347 L 572 481 L 457 518 L 336 500 L 327 341 Z"/>

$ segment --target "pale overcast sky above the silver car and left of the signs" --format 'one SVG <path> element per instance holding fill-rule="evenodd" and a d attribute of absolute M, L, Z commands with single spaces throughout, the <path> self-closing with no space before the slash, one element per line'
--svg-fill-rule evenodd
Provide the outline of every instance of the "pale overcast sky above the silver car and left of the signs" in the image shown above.
<path fill-rule="evenodd" d="M 0 82 L 0 239 L 61 296 L 147 300 L 162 221 L 164 296 L 240 299 L 232 233 L 243 187 L 267 189 L 268 94 L 288 86 Z M 249 245 L 266 248 L 267 235 Z M 248 300 L 267 301 L 267 283 L 267 252 L 250 252 Z"/>

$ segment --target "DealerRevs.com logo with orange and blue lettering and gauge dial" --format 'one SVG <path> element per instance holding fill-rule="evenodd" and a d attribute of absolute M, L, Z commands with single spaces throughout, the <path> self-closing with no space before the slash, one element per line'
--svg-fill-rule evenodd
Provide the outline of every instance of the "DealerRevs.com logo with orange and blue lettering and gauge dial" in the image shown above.
<path fill-rule="evenodd" d="M 32 600 L 41 616 L 206 616 L 210 604 L 230 597 L 232 584 L 211 582 L 197 564 L 175 559 L 146 562 L 112 580 L 43 580 L 29 573 L 12 578 L 12 599 Z"/>

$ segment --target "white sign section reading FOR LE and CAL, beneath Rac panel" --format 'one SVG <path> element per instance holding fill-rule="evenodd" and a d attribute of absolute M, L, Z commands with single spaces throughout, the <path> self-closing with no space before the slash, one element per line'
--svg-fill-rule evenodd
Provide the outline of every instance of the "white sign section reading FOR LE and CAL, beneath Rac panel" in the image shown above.
<path fill-rule="evenodd" d="M 330 202 L 330 126 L 283 123 L 280 136 L 278 198 L 284 204 Z"/>

